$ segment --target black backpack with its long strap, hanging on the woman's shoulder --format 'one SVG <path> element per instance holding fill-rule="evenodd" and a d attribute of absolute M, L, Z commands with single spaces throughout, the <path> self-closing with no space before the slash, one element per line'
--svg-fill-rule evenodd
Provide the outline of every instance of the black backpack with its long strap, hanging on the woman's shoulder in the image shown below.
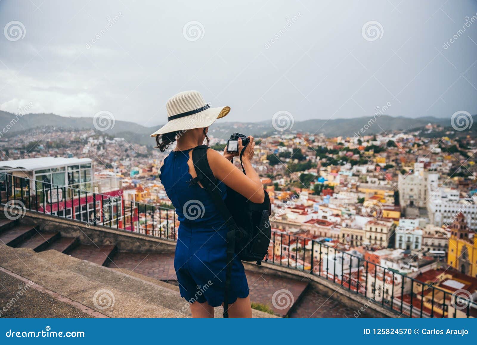
<path fill-rule="evenodd" d="M 268 260 L 271 238 L 270 197 L 265 191 L 263 203 L 252 203 L 241 194 L 227 187 L 227 198 L 224 202 L 220 190 L 217 188 L 217 179 L 214 177 L 207 161 L 208 148 L 207 145 L 200 145 L 192 151 L 192 162 L 197 177 L 193 178 L 191 183 L 200 182 L 207 189 L 229 229 L 227 233 L 227 270 L 224 301 L 224 318 L 227 318 L 228 290 L 234 257 L 238 256 L 240 260 L 254 261 L 257 264 L 261 264 L 264 258 L 265 261 Z M 242 154 L 243 151 L 240 158 Z"/>

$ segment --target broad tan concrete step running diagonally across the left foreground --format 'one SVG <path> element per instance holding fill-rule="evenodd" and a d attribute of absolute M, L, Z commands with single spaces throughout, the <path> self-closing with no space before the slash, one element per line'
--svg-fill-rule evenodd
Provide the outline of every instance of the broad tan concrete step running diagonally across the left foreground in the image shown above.
<path fill-rule="evenodd" d="M 181 306 L 175 293 L 54 250 L 0 244 L 0 266 L 109 317 L 187 317 L 165 306 Z"/>

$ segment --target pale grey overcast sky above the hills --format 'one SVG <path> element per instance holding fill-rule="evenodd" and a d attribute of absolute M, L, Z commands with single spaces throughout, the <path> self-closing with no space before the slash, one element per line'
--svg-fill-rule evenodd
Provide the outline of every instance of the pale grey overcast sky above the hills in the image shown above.
<path fill-rule="evenodd" d="M 0 0 L 0 109 L 152 126 L 199 90 L 233 121 L 475 114 L 476 16 L 474 0 Z"/>

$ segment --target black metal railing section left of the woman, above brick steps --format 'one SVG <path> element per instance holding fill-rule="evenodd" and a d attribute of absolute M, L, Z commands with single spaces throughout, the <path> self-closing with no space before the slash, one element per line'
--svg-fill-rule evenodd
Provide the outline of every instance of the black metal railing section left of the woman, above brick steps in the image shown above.
<path fill-rule="evenodd" d="M 174 209 L 125 199 L 122 190 L 92 193 L 2 173 L 0 203 L 8 205 L 4 206 L 7 216 L 10 211 L 28 210 L 155 237 L 177 237 Z"/>

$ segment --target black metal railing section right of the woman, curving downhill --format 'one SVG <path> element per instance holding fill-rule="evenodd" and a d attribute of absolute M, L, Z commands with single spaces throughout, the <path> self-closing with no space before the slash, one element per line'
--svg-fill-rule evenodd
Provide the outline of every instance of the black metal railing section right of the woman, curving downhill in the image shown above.
<path fill-rule="evenodd" d="M 455 294 L 452 290 L 435 286 L 436 282 L 426 282 L 425 274 L 402 274 L 308 237 L 276 231 L 270 242 L 272 264 L 324 278 L 340 288 L 363 295 L 368 304 L 379 304 L 401 316 L 477 317 L 473 291 L 460 290 Z M 444 281 L 451 275 L 444 272 L 440 278 Z"/>

